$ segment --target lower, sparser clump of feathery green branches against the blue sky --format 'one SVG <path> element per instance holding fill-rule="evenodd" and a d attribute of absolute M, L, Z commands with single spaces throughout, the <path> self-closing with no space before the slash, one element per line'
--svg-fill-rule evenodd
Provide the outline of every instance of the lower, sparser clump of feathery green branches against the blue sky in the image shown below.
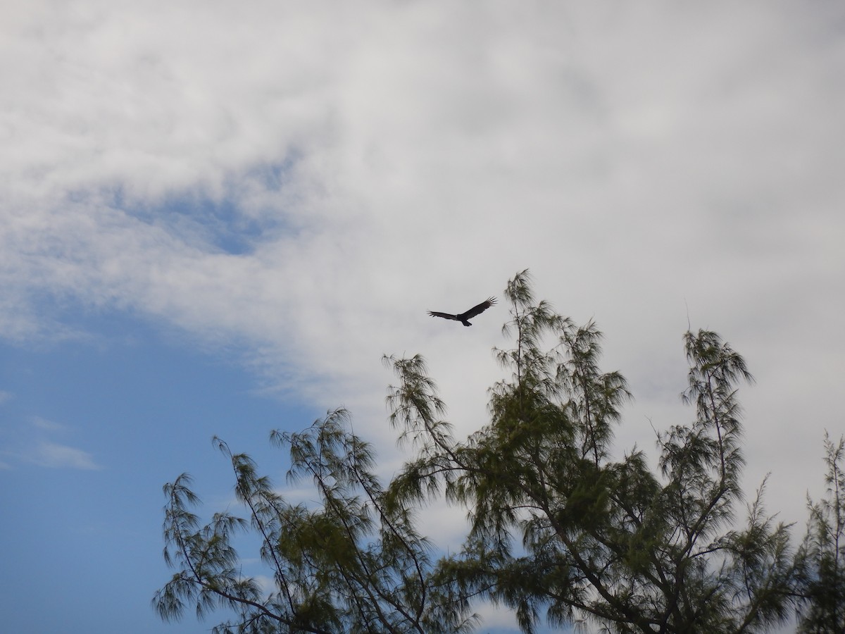
<path fill-rule="evenodd" d="M 407 506 L 387 505 L 373 476 L 370 447 L 346 431 L 344 410 L 300 434 L 273 432 L 271 441 L 291 455 L 288 478 L 308 478 L 317 508 L 292 505 L 259 478 L 254 462 L 232 454 L 237 499 L 261 538 L 261 559 L 273 571 L 268 592 L 236 568 L 231 537 L 247 523 L 215 515 L 199 528 L 188 511 L 197 503 L 180 476 L 165 493 L 165 560 L 180 568 L 153 599 L 162 618 L 177 619 L 188 604 L 202 616 L 215 607 L 234 609 L 237 622 L 218 632 L 464 631 L 475 622 L 464 598 L 452 597 L 433 577 L 430 547 L 413 527 Z"/>

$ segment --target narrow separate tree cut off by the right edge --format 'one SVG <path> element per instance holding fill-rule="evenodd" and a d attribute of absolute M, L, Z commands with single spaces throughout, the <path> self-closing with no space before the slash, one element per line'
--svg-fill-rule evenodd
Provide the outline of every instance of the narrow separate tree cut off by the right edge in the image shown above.
<path fill-rule="evenodd" d="M 845 438 L 825 437 L 826 496 L 807 500 L 810 520 L 799 549 L 802 634 L 845 632 Z"/>

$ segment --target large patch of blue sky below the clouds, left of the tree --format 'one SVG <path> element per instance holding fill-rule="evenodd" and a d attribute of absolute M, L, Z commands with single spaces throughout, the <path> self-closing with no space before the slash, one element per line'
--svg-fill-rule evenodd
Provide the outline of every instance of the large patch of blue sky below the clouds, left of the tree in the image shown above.
<path fill-rule="evenodd" d="M 319 412 L 255 396 L 243 369 L 166 341 L 139 320 L 86 325 L 121 340 L 4 345 L 0 353 L 11 395 L 2 439 L 11 462 L 0 489 L 6 627 L 206 631 L 213 623 L 165 626 L 150 609 L 170 574 L 161 560 L 161 484 L 188 471 L 199 495 L 222 510 L 232 478 L 212 435 L 248 445 L 266 473 L 281 476 L 285 456 L 268 447 L 269 430 L 297 429 Z"/>

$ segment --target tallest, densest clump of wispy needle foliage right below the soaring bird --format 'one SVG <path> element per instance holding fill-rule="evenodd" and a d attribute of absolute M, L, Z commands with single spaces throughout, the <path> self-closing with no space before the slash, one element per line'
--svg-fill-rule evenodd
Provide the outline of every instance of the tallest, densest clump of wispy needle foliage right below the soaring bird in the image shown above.
<path fill-rule="evenodd" d="M 481 593 L 515 610 L 523 631 L 592 622 L 616 632 L 762 631 L 788 615 L 793 560 L 788 528 L 740 498 L 736 390 L 751 375 L 709 331 L 688 332 L 690 424 L 659 436 L 661 473 L 634 449 L 613 459 L 613 429 L 630 399 L 624 377 L 603 372 L 601 333 L 536 303 L 523 272 L 504 295 L 515 347 L 497 351 L 510 380 L 493 386 L 490 423 L 466 443 L 430 435 L 425 455 L 392 484 L 417 502 L 442 486 L 470 511 L 463 551 L 443 560 L 455 593 Z M 406 365 L 393 395 L 406 433 L 438 429 L 414 406 L 429 385 Z M 409 422 L 410 421 L 410 422 Z M 423 441 L 424 442 L 424 441 Z"/>

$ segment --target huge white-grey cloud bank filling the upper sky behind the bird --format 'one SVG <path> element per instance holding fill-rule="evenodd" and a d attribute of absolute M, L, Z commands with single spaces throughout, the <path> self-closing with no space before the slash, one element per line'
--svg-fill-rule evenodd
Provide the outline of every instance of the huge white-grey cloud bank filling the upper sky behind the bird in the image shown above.
<path fill-rule="evenodd" d="M 268 384 L 346 404 L 389 448 L 380 354 L 425 354 L 458 432 L 477 429 L 505 309 L 472 329 L 425 311 L 531 267 L 539 297 L 607 333 L 638 397 L 620 436 L 647 448 L 646 416 L 689 416 L 686 307 L 720 331 L 758 378 L 750 481 L 773 471 L 803 515 L 793 489 L 817 485 L 822 429 L 841 427 L 836 3 L 9 14 L 4 336 L 72 336 L 79 305 L 152 316 L 236 342 Z"/>

